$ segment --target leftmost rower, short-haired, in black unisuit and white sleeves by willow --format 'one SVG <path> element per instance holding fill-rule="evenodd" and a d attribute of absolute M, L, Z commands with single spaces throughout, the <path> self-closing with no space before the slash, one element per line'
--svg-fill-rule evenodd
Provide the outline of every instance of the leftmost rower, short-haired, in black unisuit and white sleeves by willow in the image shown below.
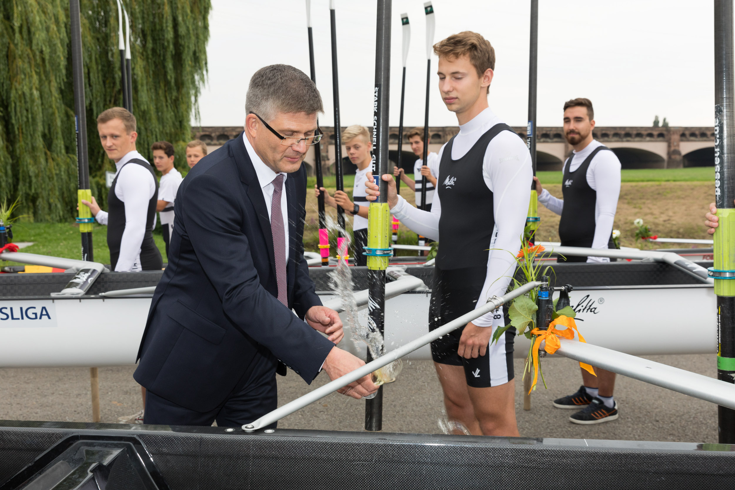
<path fill-rule="evenodd" d="M 151 164 L 135 149 L 135 116 L 123 107 L 112 107 L 98 115 L 97 131 L 117 168 L 107 195 L 110 212 L 102 211 L 94 197 L 82 203 L 98 223 L 107 225 L 112 270 L 161 270 L 161 253 L 153 241 L 158 181 Z"/>

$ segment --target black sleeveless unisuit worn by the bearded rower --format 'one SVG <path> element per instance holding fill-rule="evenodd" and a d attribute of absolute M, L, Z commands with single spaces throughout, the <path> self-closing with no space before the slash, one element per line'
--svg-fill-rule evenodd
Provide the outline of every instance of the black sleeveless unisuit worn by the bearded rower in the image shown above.
<path fill-rule="evenodd" d="M 587 169 L 595 155 L 603 150 L 612 151 L 606 146 L 598 146 L 573 172 L 569 170 L 573 155 L 564 163 L 562 178 L 564 207 L 562 208 L 562 219 L 559 221 L 559 238 L 562 239 L 562 247 L 592 247 L 592 241 L 595 239 L 597 191 L 587 184 Z M 612 234 L 608 248 L 615 248 Z M 569 256 L 566 261 L 559 258 L 559 262 L 587 262 L 587 257 Z"/>

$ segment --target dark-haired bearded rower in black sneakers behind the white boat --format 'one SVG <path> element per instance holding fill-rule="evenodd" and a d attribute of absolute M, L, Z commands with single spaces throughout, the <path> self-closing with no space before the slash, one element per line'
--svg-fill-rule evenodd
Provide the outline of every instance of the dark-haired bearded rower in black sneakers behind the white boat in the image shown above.
<path fill-rule="evenodd" d="M 562 194 L 553 197 L 534 177 L 539 203 L 557 215 L 562 246 L 615 248 L 612 225 L 620 195 L 620 160 L 602 143 L 592 138 L 595 112 L 588 98 L 564 103 L 564 137 L 574 151 L 564 162 Z M 568 256 L 566 262 L 609 262 L 607 257 Z M 559 262 L 564 259 L 559 258 Z M 582 371 L 578 392 L 553 401 L 556 408 L 581 408 L 569 417 L 575 424 L 599 424 L 617 419 L 613 398 L 615 373 L 595 367 L 597 376 Z M 583 408 L 584 407 L 584 408 Z"/>

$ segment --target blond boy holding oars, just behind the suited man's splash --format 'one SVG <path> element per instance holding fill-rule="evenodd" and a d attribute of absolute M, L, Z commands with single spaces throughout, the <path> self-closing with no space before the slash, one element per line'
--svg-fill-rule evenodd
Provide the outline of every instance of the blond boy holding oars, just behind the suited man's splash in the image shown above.
<path fill-rule="evenodd" d="M 368 246 L 368 200 L 365 198 L 365 181 L 368 179 L 368 167 L 373 157 L 370 151 L 373 149 L 373 142 L 370 141 L 370 131 L 365 126 L 355 124 L 348 127 L 342 133 L 342 141 L 345 143 L 347 156 L 350 162 L 357 165 L 355 173 L 355 183 L 352 187 L 352 201 L 350 197 L 343 191 L 334 192 L 334 197 L 324 190 L 324 187 L 316 190 L 324 192 L 324 203 L 333 208 L 342 206 L 346 212 L 354 216 L 352 221 L 352 233 L 354 234 L 353 250 L 355 254 L 355 265 L 368 265 L 368 256 L 363 255 L 362 249 Z M 362 206 L 361 206 L 362 204 Z"/>

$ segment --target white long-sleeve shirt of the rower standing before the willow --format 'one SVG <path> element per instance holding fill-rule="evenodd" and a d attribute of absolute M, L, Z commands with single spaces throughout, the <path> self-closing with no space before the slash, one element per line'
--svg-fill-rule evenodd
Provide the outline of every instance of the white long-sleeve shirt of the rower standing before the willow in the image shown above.
<path fill-rule="evenodd" d="M 115 163 L 115 175 L 118 178 L 115 195 L 125 203 L 125 231 L 120 242 L 120 257 L 115 265 L 115 272 L 118 273 L 142 270 L 140 245 L 143 244 L 143 235 L 146 234 L 148 203 L 156 192 L 156 181 L 145 167 L 133 164 L 127 165 L 121 171 L 123 165 L 132 159 L 148 162 L 137 151 L 129 151 Z M 107 225 L 107 215 L 107 211 L 100 211 L 95 218 L 101 225 Z"/>

